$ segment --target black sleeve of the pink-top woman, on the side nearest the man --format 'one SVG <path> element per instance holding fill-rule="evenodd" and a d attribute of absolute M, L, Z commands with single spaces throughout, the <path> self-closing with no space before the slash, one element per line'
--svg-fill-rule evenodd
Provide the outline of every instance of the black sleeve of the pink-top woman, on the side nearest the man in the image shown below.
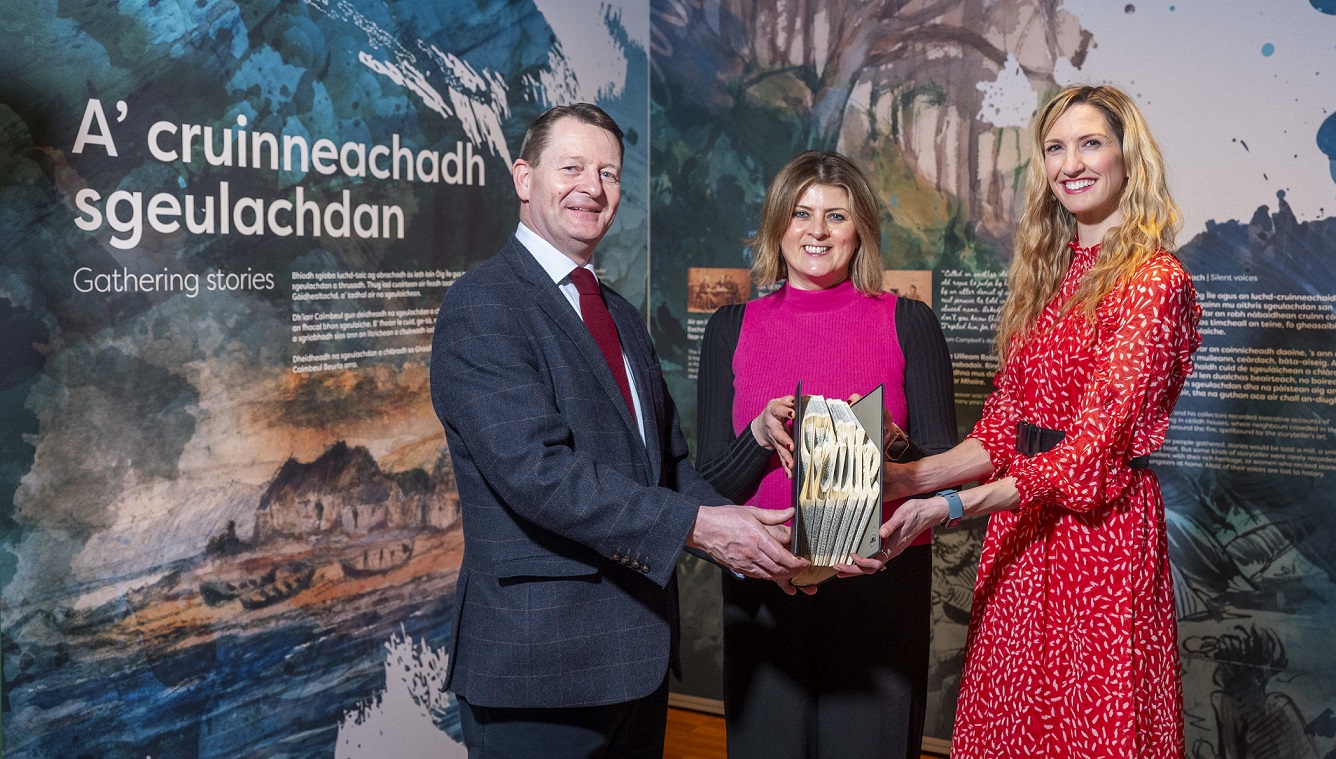
<path fill-rule="evenodd" d="M 696 470 L 735 504 L 752 494 L 774 456 L 751 430 L 733 434 L 733 353 L 744 313 L 744 305 L 729 305 L 709 317 L 696 382 Z"/>

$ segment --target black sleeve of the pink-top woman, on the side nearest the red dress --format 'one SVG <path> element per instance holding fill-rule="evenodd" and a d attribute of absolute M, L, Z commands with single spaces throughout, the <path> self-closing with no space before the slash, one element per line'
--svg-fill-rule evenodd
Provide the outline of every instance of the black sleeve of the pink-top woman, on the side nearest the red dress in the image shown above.
<path fill-rule="evenodd" d="M 904 401 L 911 449 L 927 456 L 955 445 L 955 384 L 942 325 L 927 303 L 896 298 L 895 334 L 904 354 Z"/>

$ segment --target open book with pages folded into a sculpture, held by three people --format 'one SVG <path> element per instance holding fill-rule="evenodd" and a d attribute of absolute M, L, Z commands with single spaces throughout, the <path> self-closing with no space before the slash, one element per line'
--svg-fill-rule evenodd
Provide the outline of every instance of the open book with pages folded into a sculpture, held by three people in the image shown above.
<path fill-rule="evenodd" d="M 850 553 L 880 549 L 882 388 L 855 404 L 803 396 L 794 414 L 794 553 L 812 567 L 794 577 L 815 585 L 835 576 Z"/>

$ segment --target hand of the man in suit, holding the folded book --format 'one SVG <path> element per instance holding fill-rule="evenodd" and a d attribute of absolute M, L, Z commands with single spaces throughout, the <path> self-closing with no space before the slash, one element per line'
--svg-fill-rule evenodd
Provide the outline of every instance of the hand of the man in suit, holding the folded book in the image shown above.
<path fill-rule="evenodd" d="M 787 585 L 790 577 L 810 565 L 784 548 L 788 543 L 784 522 L 792 517 L 794 509 L 700 506 L 687 547 L 699 548 L 715 561 L 748 577 Z"/>

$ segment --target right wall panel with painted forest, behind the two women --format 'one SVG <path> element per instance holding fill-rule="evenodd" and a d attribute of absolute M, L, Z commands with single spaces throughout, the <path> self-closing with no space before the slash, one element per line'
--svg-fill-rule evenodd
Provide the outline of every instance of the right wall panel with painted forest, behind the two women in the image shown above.
<path fill-rule="evenodd" d="M 953 350 L 967 433 L 995 367 L 991 323 L 1005 295 L 1031 115 L 1071 82 L 1128 90 L 1172 162 L 1186 215 L 1178 255 L 1206 311 L 1200 370 L 1153 460 L 1170 510 L 1189 755 L 1328 756 L 1336 755 L 1336 671 L 1319 631 L 1336 621 L 1336 576 L 1320 547 L 1336 528 L 1321 486 L 1333 460 L 1305 458 L 1304 446 L 1331 448 L 1332 404 L 1323 380 L 1288 394 L 1275 385 L 1256 397 L 1230 393 L 1261 380 L 1238 374 L 1241 359 L 1221 361 L 1284 345 L 1300 351 L 1296 361 L 1329 370 L 1336 172 L 1321 130 L 1324 119 L 1336 123 L 1336 103 L 1308 80 L 1336 73 L 1319 39 L 1319 29 L 1332 39 L 1336 16 L 1317 0 L 1244 5 L 656 0 L 651 317 L 672 392 L 693 425 L 708 313 L 687 309 L 687 273 L 744 271 L 743 241 L 775 171 L 803 150 L 838 150 L 876 186 L 888 282 L 929 277 L 923 297 Z M 1233 44 L 1249 35 L 1256 47 Z M 1156 48 L 1164 60 L 1146 60 L 1144 45 L 1161 37 L 1180 39 L 1182 51 Z M 1277 49 L 1289 57 L 1269 60 Z M 1250 71 L 1271 63 L 1275 71 Z M 1229 75 L 1220 86 L 1233 94 L 1216 108 L 1238 118 L 1222 120 L 1197 99 Z M 1276 106 L 1284 114 L 1267 123 L 1246 104 L 1280 100 L 1279 91 L 1305 110 Z M 1198 154 L 1206 160 L 1190 160 Z M 1233 190 L 1204 192 L 1198 184 L 1222 162 L 1238 175 Z M 1297 334 L 1264 321 L 1230 329 L 1237 314 L 1226 309 L 1248 299 L 1293 305 L 1311 326 Z M 1261 430 L 1265 440 L 1256 437 Z M 1269 466 L 1232 454 L 1268 444 L 1277 444 Z M 1277 502 L 1276 493 L 1285 497 Z M 981 520 L 935 540 L 927 735 L 943 740 L 982 532 Z M 691 665 L 680 692 L 719 698 L 717 583 L 712 568 L 691 560 L 683 573 Z"/>

